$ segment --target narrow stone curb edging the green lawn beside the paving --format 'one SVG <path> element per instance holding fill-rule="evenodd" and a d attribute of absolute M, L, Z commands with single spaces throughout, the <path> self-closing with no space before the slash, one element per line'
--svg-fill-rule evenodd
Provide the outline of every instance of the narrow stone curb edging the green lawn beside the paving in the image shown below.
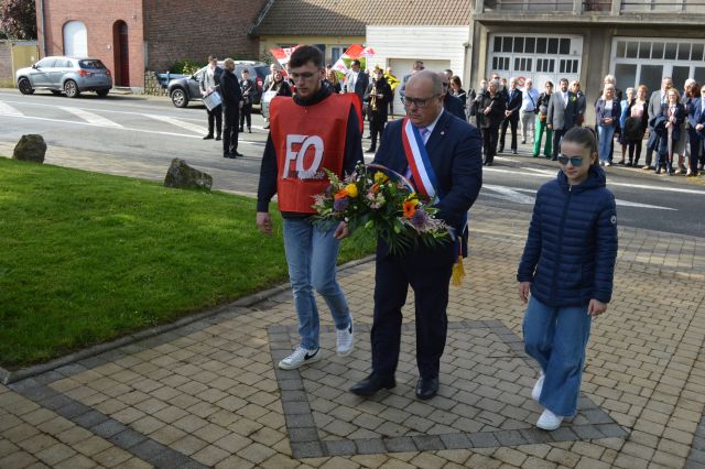
<path fill-rule="evenodd" d="M 368 255 L 362 259 L 357 259 L 355 261 L 350 261 L 343 265 L 339 265 L 337 268 L 337 272 L 344 272 L 346 270 L 366 264 L 373 260 L 375 260 L 375 255 Z M 258 292 L 252 295 L 245 296 L 232 303 L 228 303 L 221 306 L 216 306 L 215 308 L 205 310 L 203 313 L 197 313 L 194 315 L 182 317 L 170 324 L 150 327 L 149 329 L 143 329 L 134 334 L 129 334 L 124 337 L 120 337 L 119 339 L 112 340 L 110 342 L 98 343 L 96 346 L 88 347 L 87 349 L 83 349 L 77 352 L 66 355 L 64 357 L 55 358 L 45 363 L 39 363 L 39 364 L 31 366 L 29 368 L 21 368 L 14 371 L 6 370 L 4 368 L 0 367 L 0 384 L 8 385 L 17 381 L 24 380 L 26 378 L 32 378 L 37 374 L 42 374 L 47 371 L 64 367 L 66 364 L 70 364 L 75 361 L 95 357 L 97 355 L 100 355 L 110 350 L 115 350 L 117 348 L 124 347 L 130 343 L 134 343 L 140 340 L 148 339 L 150 337 L 159 336 L 161 334 L 169 332 L 184 326 L 188 326 L 189 324 L 196 323 L 198 320 L 202 320 L 212 316 L 217 316 L 219 314 L 226 313 L 234 308 L 236 309 L 249 308 L 258 303 L 261 303 L 281 293 L 288 292 L 290 288 L 291 288 L 291 284 L 288 282 L 288 283 L 274 286 L 273 288 L 264 290 L 262 292 Z"/>

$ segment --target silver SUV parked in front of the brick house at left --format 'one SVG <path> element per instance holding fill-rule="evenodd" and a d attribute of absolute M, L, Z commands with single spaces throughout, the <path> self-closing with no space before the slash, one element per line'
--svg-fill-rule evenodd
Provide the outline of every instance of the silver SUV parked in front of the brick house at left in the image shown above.
<path fill-rule="evenodd" d="M 44 88 L 69 98 L 83 91 L 96 91 L 105 98 L 112 88 L 112 75 L 98 58 L 44 57 L 31 67 L 20 68 L 15 78 L 23 95 Z"/>

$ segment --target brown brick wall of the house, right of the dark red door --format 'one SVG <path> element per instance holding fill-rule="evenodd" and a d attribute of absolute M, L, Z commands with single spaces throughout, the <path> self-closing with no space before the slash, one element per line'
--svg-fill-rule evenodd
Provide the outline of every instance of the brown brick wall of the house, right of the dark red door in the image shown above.
<path fill-rule="evenodd" d="M 147 68 L 163 73 L 176 61 L 257 59 L 248 35 L 267 0 L 143 0 Z"/>

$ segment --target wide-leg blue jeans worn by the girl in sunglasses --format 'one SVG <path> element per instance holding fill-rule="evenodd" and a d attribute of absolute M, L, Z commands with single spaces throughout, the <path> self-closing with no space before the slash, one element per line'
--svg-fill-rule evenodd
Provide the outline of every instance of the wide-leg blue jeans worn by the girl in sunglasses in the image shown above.
<path fill-rule="evenodd" d="M 577 412 L 592 318 L 587 306 L 551 307 L 531 297 L 524 314 L 524 350 L 545 374 L 539 402 L 556 415 Z"/>

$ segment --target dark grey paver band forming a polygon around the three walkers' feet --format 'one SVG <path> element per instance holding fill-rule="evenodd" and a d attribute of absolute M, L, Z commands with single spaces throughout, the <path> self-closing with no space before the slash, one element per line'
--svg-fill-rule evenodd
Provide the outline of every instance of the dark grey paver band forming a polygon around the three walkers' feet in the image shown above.
<path fill-rule="evenodd" d="M 370 330 L 368 325 L 358 325 L 356 328 L 358 334 L 369 332 Z M 405 324 L 402 328 L 404 331 L 414 330 L 414 325 Z M 512 352 L 522 358 L 527 366 L 535 368 L 524 355 L 521 338 L 501 321 L 466 320 L 448 323 L 448 329 L 474 328 L 490 329 Z M 628 435 L 627 430 L 597 407 L 590 399 L 582 396 L 579 402 L 581 414 L 587 418 L 589 424 L 565 426 L 555 432 L 543 432 L 531 427 L 481 433 L 458 432 L 444 435 L 322 440 L 313 418 L 313 412 L 300 371 L 281 370 L 276 366 L 280 359 L 291 353 L 292 335 L 296 335 L 296 326 L 273 325 L 268 328 L 272 364 L 281 390 L 281 401 L 292 457 L 296 459 L 442 449 L 492 448 L 582 439 L 621 438 Z M 322 326 L 321 331 L 333 334 L 335 332 L 335 326 Z"/>

